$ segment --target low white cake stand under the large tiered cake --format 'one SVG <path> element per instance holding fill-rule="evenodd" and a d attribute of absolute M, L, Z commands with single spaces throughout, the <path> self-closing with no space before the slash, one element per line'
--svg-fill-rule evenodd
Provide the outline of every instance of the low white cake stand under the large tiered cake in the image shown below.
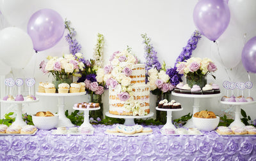
<path fill-rule="evenodd" d="M 124 118 L 125 119 L 124 125 L 132 126 L 132 125 L 135 125 L 134 118 L 148 118 L 148 117 L 152 117 L 154 113 L 150 112 L 148 113 L 148 115 L 144 115 L 144 116 L 125 116 L 125 115 L 113 115 L 109 112 L 106 112 L 105 115 L 112 118 Z"/>

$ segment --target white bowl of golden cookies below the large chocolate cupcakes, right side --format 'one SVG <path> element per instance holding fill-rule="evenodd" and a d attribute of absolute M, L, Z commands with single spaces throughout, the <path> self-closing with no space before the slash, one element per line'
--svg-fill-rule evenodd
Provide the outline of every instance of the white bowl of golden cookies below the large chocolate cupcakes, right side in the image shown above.
<path fill-rule="evenodd" d="M 198 130 L 211 131 L 218 127 L 220 117 L 212 111 L 200 111 L 193 115 L 193 124 Z"/>

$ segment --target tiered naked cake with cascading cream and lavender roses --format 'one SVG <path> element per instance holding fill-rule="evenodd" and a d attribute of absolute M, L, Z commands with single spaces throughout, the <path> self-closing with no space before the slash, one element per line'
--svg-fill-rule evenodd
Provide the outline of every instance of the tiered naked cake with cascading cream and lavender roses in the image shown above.
<path fill-rule="evenodd" d="M 109 87 L 109 113 L 113 115 L 139 115 L 150 113 L 150 87 L 145 84 L 145 64 L 127 50 L 113 53 L 106 84 Z"/>

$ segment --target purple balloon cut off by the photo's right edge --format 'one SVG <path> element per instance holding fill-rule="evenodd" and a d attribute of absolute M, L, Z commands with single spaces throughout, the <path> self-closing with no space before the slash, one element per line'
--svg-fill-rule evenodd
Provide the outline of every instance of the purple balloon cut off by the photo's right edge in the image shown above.
<path fill-rule="evenodd" d="M 256 36 L 244 45 L 242 62 L 246 71 L 256 73 Z"/>

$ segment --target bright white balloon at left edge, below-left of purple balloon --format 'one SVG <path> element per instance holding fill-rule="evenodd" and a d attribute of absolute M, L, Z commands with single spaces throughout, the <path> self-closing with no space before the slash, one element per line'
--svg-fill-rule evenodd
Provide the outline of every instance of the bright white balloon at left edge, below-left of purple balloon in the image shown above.
<path fill-rule="evenodd" d="M 0 31 L 0 59 L 11 67 L 26 67 L 31 59 L 33 43 L 30 36 L 17 27 Z"/>

